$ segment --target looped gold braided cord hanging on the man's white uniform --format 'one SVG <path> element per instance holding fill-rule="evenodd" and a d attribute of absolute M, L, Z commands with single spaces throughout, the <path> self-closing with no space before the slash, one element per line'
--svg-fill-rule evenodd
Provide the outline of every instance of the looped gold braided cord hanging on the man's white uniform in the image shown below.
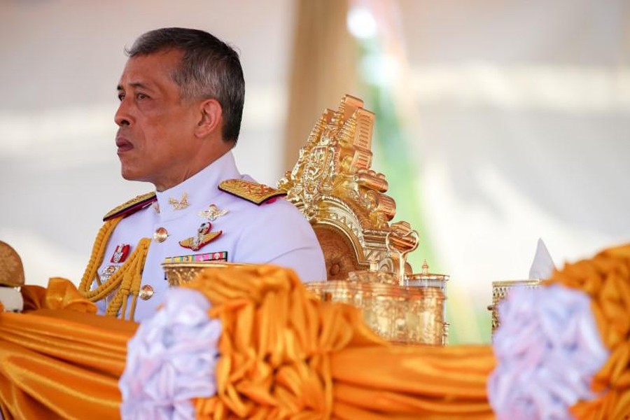
<path fill-rule="evenodd" d="M 140 239 L 136 249 L 127 259 L 125 264 L 123 264 L 123 266 L 120 267 L 120 269 L 118 269 L 118 271 L 116 271 L 116 273 L 114 273 L 108 281 L 99 284 L 97 288 L 91 289 L 92 282 L 97 277 L 97 269 L 103 262 L 109 238 L 111 237 L 114 229 L 116 229 L 116 225 L 118 225 L 122 219 L 123 217 L 121 216 L 106 221 L 101 230 L 99 230 L 96 239 L 94 239 L 94 246 L 92 246 L 90 262 L 87 263 L 85 273 L 83 273 L 83 278 L 81 279 L 81 283 L 79 285 L 79 292 L 86 299 L 92 302 L 98 302 L 99 300 L 103 300 L 105 297 L 111 295 L 111 293 L 118 288 L 116 295 L 113 296 L 113 299 L 107 306 L 106 310 L 107 315 L 117 316 L 120 307 L 123 306 L 123 302 L 125 302 L 126 305 L 127 296 L 131 291 L 134 295 L 134 302 L 129 319 L 133 319 L 136 306 L 135 301 L 140 290 L 142 269 L 144 268 L 148 247 L 151 245 L 151 239 Z M 125 311 L 127 309 L 126 306 L 123 309 L 125 310 L 123 311 L 122 318 L 125 318 Z"/>

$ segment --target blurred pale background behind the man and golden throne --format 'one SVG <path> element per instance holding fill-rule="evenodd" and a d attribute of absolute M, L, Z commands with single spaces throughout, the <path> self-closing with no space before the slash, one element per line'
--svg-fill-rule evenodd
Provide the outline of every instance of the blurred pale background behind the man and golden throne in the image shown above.
<path fill-rule="evenodd" d="M 175 6 L 176 4 L 176 6 Z M 158 27 L 241 53 L 241 172 L 274 185 L 324 108 L 377 113 L 411 256 L 449 274 L 451 343 L 489 342 L 491 282 L 630 237 L 630 3 L 625 0 L 0 0 L 0 240 L 27 283 L 78 282 L 124 181 L 116 84 Z"/>

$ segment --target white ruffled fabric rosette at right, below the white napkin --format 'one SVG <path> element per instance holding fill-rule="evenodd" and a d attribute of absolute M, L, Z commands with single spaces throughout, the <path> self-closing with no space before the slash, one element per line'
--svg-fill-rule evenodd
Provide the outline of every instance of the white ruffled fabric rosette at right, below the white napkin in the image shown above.
<path fill-rule="evenodd" d="M 499 316 L 488 383 L 498 419 L 570 419 L 570 406 L 596 396 L 591 381 L 608 350 L 587 295 L 560 285 L 514 288 Z"/>

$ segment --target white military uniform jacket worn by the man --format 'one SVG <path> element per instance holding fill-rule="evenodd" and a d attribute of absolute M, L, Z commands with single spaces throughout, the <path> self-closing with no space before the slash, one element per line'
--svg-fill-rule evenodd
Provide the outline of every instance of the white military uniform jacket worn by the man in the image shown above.
<path fill-rule="evenodd" d="M 111 270 L 111 267 L 116 269 L 122 265 L 122 262 L 111 262 L 117 247 L 120 250 L 129 244 L 132 253 L 139 239 L 152 238 L 142 273 L 141 290 L 152 289 L 153 295 L 146 300 L 138 300 L 134 321 L 141 322 L 151 316 L 162 303 L 168 283 L 161 264 L 170 258 L 275 264 L 294 269 L 302 281 L 326 279 L 321 247 L 300 211 L 283 198 L 257 205 L 225 193 L 218 185 L 227 179 L 251 181 L 248 176 L 239 174 L 231 152 L 178 186 L 158 191 L 157 202 L 123 218 L 116 226 L 99 267 L 99 275 L 104 274 L 108 267 Z M 186 203 L 182 204 L 182 200 Z M 208 217 L 211 204 L 218 211 L 227 212 L 212 221 Z M 180 244 L 180 241 L 190 238 L 190 245 L 202 223 L 207 222 L 211 223 L 210 233 L 221 231 L 221 235 L 196 251 Z M 162 237 L 166 234 L 166 239 L 154 239 L 158 231 L 162 232 Z M 102 300 L 99 302 L 99 313 L 103 314 L 104 309 L 105 302 Z"/>

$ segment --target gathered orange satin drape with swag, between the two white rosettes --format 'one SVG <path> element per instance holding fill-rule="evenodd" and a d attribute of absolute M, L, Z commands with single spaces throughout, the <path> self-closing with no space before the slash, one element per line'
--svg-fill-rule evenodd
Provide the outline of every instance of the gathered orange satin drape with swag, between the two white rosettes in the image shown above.
<path fill-rule="evenodd" d="M 206 270 L 186 287 L 223 323 L 218 393 L 197 400 L 199 419 L 493 418 L 490 346 L 392 346 L 279 267 Z"/>

